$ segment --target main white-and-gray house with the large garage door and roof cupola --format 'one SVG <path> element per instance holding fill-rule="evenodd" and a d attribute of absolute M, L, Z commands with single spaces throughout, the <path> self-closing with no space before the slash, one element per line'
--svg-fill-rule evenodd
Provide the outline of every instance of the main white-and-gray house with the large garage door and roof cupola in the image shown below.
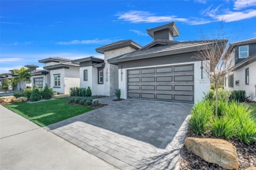
<path fill-rule="evenodd" d="M 154 41 L 146 46 L 132 40 L 118 41 L 96 48 L 96 52 L 104 54 L 104 60 L 73 60 L 80 67 L 80 86 L 90 86 L 93 95 L 110 96 L 120 88 L 124 99 L 178 103 L 202 99 L 210 86 L 202 66 L 209 61 L 200 61 L 194 53 L 214 41 L 173 41 L 173 37 L 179 36 L 175 22 L 147 32 Z"/>

